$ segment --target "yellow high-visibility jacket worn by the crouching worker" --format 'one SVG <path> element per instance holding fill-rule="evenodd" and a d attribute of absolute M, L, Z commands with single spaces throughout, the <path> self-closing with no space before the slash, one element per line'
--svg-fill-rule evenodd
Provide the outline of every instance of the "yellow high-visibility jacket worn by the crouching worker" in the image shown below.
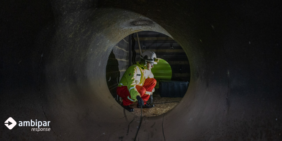
<path fill-rule="evenodd" d="M 121 80 L 119 81 L 119 87 L 127 86 L 127 89 L 130 93 L 131 99 L 137 101 L 136 96 L 140 96 L 139 92 L 136 89 L 136 85 L 142 86 L 146 78 L 154 78 L 152 72 L 146 69 L 144 66 L 139 63 L 130 66 L 125 73 L 123 74 Z M 129 98 L 129 97 L 128 97 Z"/>

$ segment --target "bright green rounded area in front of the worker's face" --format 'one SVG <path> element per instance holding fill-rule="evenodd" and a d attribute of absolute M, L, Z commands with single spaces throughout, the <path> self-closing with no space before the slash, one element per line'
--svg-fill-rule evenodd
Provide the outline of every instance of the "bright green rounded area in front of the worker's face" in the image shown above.
<path fill-rule="evenodd" d="M 155 64 L 151 71 L 154 74 L 154 78 L 157 80 L 155 88 L 159 88 L 159 80 L 170 80 L 172 77 L 171 67 L 164 59 L 159 59 L 158 64 Z"/>

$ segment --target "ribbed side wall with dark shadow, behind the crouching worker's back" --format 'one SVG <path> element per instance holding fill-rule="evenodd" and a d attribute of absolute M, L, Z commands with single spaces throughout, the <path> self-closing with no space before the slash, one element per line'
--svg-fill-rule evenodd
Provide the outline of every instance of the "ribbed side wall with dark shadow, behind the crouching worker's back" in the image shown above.
<path fill-rule="evenodd" d="M 116 90 L 119 80 L 129 67 L 129 36 L 123 38 L 109 55 L 106 66 L 106 80 L 108 88 L 113 97 L 116 97 Z"/>

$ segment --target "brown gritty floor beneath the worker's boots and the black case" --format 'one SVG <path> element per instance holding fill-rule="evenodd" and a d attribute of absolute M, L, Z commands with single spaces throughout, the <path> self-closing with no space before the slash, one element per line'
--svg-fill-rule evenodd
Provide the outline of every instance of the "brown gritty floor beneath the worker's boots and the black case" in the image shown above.
<path fill-rule="evenodd" d="M 153 102 L 154 103 L 163 103 L 163 102 L 170 102 L 170 101 L 181 101 L 181 97 L 161 97 L 159 94 L 153 94 Z M 169 110 L 171 110 L 173 107 L 175 107 L 178 104 L 178 102 L 174 103 L 164 103 L 164 104 L 155 104 L 155 107 L 153 108 L 142 108 L 142 117 L 153 117 L 157 115 L 161 115 Z M 141 108 L 136 107 L 137 102 L 130 105 L 134 108 L 134 114 L 139 115 L 141 114 Z"/>

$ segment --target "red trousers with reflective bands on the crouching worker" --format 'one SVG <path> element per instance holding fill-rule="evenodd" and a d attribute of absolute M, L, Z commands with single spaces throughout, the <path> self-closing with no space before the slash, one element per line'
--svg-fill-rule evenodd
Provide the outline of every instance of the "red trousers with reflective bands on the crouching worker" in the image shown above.
<path fill-rule="evenodd" d="M 144 101 L 144 104 L 146 104 L 150 97 L 149 94 L 146 93 L 147 92 L 152 92 L 153 88 L 156 86 L 157 81 L 155 80 L 155 78 L 147 78 L 145 79 L 145 82 L 143 84 L 143 86 L 139 86 L 136 85 L 136 89 L 137 91 L 140 93 L 141 98 Z M 122 98 L 122 103 L 124 106 L 130 105 L 133 102 L 130 101 L 129 99 L 127 99 L 127 96 L 129 96 L 129 98 L 131 98 L 129 91 L 127 89 L 127 86 L 121 86 L 121 87 L 117 87 L 117 95 L 119 95 Z"/>

